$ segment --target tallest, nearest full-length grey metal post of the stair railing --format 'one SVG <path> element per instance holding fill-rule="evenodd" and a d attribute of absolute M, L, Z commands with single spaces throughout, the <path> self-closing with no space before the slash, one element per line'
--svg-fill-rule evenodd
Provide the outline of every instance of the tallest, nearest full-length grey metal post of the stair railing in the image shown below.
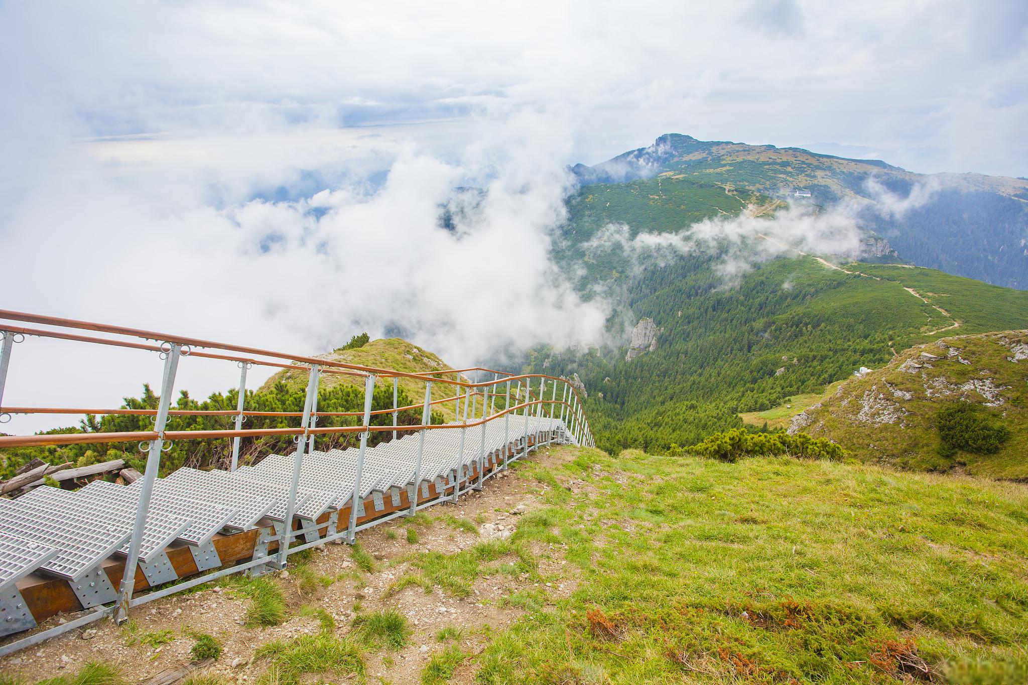
<path fill-rule="evenodd" d="M 128 618 L 128 603 L 132 602 L 133 589 L 136 587 L 136 566 L 139 564 L 139 550 L 143 546 L 143 531 L 146 530 L 146 517 L 150 509 L 150 498 L 153 495 L 153 483 L 157 480 L 157 471 L 160 470 L 160 452 L 164 447 L 164 426 L 168 425 L 168 411 L 172 405 L 175 374 L 179 369 L 179 355 L 182 353 L 182 346 L 178 343 L 166 344 L 170 345 L 170 348 L 162 352 L 164 354 L 164 373 L 160 381 L 160 401 L 157 403 L 157 415 L 154 417 L 153 423 L 153 429 L 157 436 L 150 441 L 149 451 L 146 455 L 143 487 L 139 492 L 132 540 L 128 542 L 128 555 L 125 559 L 124 572 L 121 574 L 121 584 L 118 587 L 118 608 L 114 614 L 114 620 L 118 623 Z"/>

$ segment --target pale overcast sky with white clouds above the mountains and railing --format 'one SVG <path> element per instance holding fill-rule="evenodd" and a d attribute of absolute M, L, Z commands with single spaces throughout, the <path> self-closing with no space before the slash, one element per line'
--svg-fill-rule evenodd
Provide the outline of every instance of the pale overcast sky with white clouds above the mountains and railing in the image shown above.
<path fill-rule="evenodd" d="M 547 259 L 565 164 L 682 132 L 1028 176 L 1023 1 L 444 4 L 0 3 L 0 306 L 466 364 L 598 335 Z M 485 211 L 440 232 L 460 186 Z M 156 376 L 54 398 L 47 345 L 5 404 Z"/>

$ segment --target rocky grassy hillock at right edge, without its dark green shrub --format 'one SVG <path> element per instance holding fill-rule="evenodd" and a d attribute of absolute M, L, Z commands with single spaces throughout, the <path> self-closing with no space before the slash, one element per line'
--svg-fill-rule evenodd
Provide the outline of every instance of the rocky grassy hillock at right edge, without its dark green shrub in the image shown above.
<path fill-rule="evenodd" d="M 979 475 L 1028 479 L 1028 360 L 1009 360 L 1011 345 L 1028 343 L 1028 331 L 956 336 L 940 342 L 948 347 L 934 343 L 913 347 L 883 369 L 846 381 L 805 412 L 803 422 L 808 425 L 803 430 L 831 437 L 860 459 L 920 469 L 965 465 L 968 472 Z M 951 347 L 970 364 L 948 358 Z M 947 358 L 925 360 L 922 352 Z M 913 369 L 914 373 L 902 370 L 908 360 L 923 368 Z M 944 458 L 939 455 L 941 441 L 934 426 L 939 410 L 949 402 L 988 402 L 972 388 L 957 387 L 968 382 L 991 382 L 1002 388 L 1002 404 L 993 411 L 1013 434 L 997 454 L 961 453 Z M 904 393 L 910 393 L 910 398 Z M 895 418 L 887 421 L 887 414 Z"/>

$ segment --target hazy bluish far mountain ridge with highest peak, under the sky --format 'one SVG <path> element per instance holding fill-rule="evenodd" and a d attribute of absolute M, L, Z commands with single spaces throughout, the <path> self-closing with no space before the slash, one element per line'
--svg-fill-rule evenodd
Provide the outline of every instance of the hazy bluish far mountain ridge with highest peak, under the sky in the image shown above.
<path fill-rule="evenodd" d="M 647 230 L 671 230 L 700 215 L 717 216 L 717 212 L 703 212 L 710 206 L 711 193 L 737 205 L 804 202 L 824 211 L 844 206 L 869 236 L 888 242 L 887 246 L 873 244 L 868 257 L 907 261 L 1028 290 L 1025 179 L 914 174 L 877 159 L 847 159 L 773 145 L 698 141 L 677 134 L 661 136 L 649 147 L 592 166 L 576 164 L 571 172 L 582 184 L 579 195 L 570 200 L 573 216 L 582 198 L 625 184 L 651 190 L 645 195 L 657 199 L 670 189 L 676 200 L 686 200 L 677 201 L 680 217 L 671 207 L 664 207 L 664 225 Z M 690 203 L 690 199 L 697 201 Z M 590 210 L 601 223 L 603 213 Z M 731 208 L 720 204 L 718 211 L 731 214 Z"/>

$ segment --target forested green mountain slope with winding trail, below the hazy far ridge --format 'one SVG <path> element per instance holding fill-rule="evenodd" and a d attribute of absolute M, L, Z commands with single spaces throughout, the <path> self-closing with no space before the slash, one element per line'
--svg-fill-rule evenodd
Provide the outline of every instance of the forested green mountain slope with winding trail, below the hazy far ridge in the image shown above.
<path fill-rule="evenodd" d="M 845 269 L 845 270 L 843 270 Z M 953 333 L 1028 328 L 1028 293 L 916 267 L 832 268 L 778 258 L 728 288 L 690 255 L 633 278 L 624 303 L 660 331 L 656 349 L 538 351 L 535 370 L 578 372 L 599 446 L 664 451 L 741 425 L 737 412 L 821 392 L 894 350 Z"/>

